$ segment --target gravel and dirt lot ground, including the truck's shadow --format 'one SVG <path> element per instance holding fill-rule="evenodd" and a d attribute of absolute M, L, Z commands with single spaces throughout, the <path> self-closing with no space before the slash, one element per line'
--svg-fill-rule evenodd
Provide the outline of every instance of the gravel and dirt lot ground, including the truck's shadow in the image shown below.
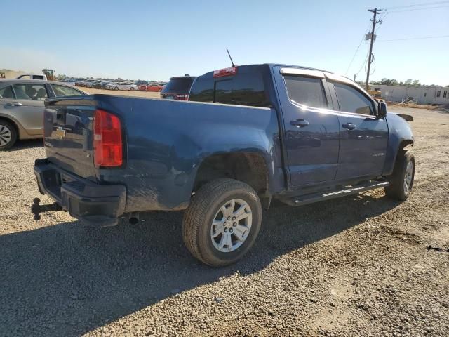
<path fill-rule="evenodd" d="M 392 110 L 415 117 L 408 201 L 276 207 L 248 256 L 218 270 L 189 256 L 181 213 L 34 222 L 41 141 L 1 152 L 0 336 L 449 336 L 449 114 Z"/>

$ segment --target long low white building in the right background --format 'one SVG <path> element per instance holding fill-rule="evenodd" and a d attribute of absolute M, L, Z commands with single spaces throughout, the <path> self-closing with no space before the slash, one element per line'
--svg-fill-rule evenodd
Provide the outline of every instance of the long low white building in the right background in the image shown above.
<path fill-rule="evenodd" d="M 449 87 L 444 86 L 371 86 L 382 92 L 382 98 L 391 102 L 406 99 L 421 104 L 449 104 Z"/>

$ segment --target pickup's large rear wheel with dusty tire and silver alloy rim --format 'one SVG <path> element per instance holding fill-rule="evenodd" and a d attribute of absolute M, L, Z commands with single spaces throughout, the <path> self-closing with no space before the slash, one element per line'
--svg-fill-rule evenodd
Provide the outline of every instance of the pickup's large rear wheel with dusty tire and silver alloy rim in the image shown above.
<path fill-rule="evenodd" d="M 252 187 L 234 179 L 203 185 L 192 197 L 182 223 L 190 253 L 211 267 L 231 265 L 253 246 L 262 206 Z"/>

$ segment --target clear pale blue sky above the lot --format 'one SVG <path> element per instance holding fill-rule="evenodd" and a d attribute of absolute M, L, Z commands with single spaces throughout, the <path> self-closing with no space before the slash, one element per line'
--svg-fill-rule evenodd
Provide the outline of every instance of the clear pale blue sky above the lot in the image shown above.
<path fill-rule="evenodd" d="M 397 8 L 414 4 L 434 8 Z M 436 0 L 0 0 L 0 69 L 166 81 L 229 67 L 229 48 L 238 65 L 361 80 L 375 7 L 391 9 L 377 28 L 370 80 L 449 85 L 449 1 Z M 403 40 L 382 41 L 392 39 Z"/>

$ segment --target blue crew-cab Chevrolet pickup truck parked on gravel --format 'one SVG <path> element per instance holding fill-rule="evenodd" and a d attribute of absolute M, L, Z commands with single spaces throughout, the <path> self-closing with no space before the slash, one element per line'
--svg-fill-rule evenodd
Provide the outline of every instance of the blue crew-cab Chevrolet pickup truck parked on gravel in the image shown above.
<path fill-rule="evenodd" d="M 207 265 L 239 260 L 262 209 L 384 188 L 406 200 L 413 134 L 353 81 L 291 65 L 244 65 L 196 78 L 189 102 L 81 95 L 46 100 L 32 213 L 116 225 L 185 210 L 187 249 Z M 122 220 L 121 220 L 122 221 Z"/>

